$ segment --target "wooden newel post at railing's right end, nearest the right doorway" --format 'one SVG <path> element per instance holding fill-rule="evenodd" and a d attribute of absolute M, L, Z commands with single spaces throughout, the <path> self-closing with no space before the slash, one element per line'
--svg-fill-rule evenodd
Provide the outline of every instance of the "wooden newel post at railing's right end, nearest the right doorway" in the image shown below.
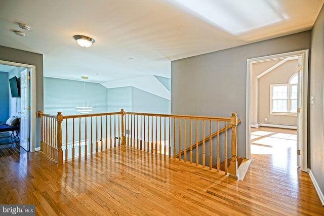
<path fill-rule="evenodd" d="M 236 125 L 237 125 L 237 116 L 236 113 L 232 113 L 231 116 L 231 125 L 232 125 L 232 157 L 231 157 L 231 167 L 229 172 L 229 177 L 237 179 L 237 143 L 236 143 Z"/>

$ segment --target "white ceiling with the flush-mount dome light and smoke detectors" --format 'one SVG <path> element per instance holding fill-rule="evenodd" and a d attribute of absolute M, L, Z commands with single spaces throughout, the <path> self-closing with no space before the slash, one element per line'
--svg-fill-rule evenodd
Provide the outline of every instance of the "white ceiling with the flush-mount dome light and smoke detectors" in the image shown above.
<path fill-rule="evenodd" d="M 253 8 L 255 1 L 261 0 L 246 3 Z M 268 1 L 278 4 L 287 19 L 234 35 L 173 0 L 1 0 L 0 45 L 43 54 L 48 77 L 88 76 L 89 81 L 106 84 L 142 76 L 170 77 L 172 60 L 309 30 L 324 2 Z M 96 41 L 91 48 L 82 48 L 72 38 L 75 34 Z"/>

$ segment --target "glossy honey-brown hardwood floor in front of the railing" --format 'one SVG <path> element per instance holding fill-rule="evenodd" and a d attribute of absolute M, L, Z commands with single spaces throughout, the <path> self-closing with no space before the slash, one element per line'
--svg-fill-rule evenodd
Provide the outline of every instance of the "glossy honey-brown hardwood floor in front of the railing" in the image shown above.
<path fill-rule="evenodd" d="M 275 151 L 253 154 L 244 181 L 124 146 L 63 166 L 21 151 L 0 158 L 0 203 L 36 215 L 324 215 L 293 146 L 258 143 Z"/>

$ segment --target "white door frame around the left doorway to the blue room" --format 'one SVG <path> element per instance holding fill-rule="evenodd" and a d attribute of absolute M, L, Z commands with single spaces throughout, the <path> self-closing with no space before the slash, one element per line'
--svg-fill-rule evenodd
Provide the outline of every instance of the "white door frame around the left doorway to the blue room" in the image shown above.
<path fill-rule="evenodd" d="M 10 62 L 10 61 L 4 61 L 0 60 L 0 64 L 4 65 L 10 65 L 10 66 L 15 66 L 15 67 L 25 67 L 29 68 L 30 71 L 30 90 L 29 90 L 29 95 L 30 95 L 30 124 L 29 124 L 29 151 L 33 152 L 35 151 L 35 121 L 36 121 L 36 80 L 35 80 L 35 71 L 36 71 L 36 66 L 35 65 L 29 65 L 29 64 L 22 64 L 18 62 Z"/>

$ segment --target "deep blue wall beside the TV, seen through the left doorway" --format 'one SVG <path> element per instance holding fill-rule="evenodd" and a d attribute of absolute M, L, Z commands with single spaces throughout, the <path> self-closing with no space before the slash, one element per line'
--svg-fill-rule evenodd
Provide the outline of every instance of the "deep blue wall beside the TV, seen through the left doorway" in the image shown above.
<path fill-rule="evenodd" d="M 7 72 L 0 72 L 0 123 L 6 123 L 9 116 L 9 79 Z"/>

